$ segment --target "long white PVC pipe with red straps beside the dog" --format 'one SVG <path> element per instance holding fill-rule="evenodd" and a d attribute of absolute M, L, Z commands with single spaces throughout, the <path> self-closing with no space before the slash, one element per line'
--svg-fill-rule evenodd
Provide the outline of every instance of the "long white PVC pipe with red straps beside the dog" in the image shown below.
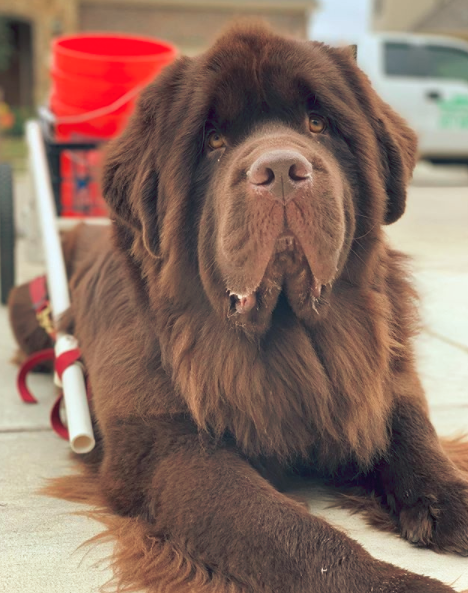
<path fill-rule="evenodd" d="M 57 212 L 44 140 L 41 127 L 37 121 L 27 122 L 26 139 L 29 148 L 39 226 L 44 245 L 49 298 L 54 322 L 57 323 L 63 313 L 70 307 L 70 295 L 62 246 L 57 229 Z M 73 336 L 62 332 L 57 334 L 56 356 L 76 347 L 77 342 Z M 75 453 L 88 453 L 94 448 L 95 440 L 83 369 L 79 363 L 71 365 L 64 371 L 62 386 L 71 448 Z"/>

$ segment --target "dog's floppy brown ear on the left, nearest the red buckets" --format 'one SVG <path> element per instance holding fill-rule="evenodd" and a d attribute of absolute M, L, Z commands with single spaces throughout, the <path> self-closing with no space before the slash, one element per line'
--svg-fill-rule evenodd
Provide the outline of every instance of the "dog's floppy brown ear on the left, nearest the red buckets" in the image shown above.
<path fill-rule="evenodd" d="M 141 94 L 126 129 L 106 152 L 102 191 L 118 224 L 140 234 L 150 254 L 159 256 L 158 151 L 167 113 L 184 63 L 168 66 Z"/>

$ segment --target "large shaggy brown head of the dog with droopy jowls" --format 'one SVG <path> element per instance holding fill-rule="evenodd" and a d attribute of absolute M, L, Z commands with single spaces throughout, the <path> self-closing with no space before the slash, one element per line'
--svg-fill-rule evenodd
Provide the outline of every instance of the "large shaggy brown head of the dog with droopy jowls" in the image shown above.
<path fill-rule="evenodd" d="M 236 27 L 145 90 L 104 194 L 168 298 L 262 333 L 277 309 L 313 323 L 345 267 L 358 281 L 353 246 L 402 215 L 415 158 L 351 50 Z"/>

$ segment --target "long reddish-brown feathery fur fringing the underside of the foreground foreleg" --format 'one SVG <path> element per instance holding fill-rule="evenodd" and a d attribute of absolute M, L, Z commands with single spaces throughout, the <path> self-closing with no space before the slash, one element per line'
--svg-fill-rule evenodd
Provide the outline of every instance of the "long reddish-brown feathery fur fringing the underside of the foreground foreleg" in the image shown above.
<path fill-rule="evenodd" d="M 94 469 L 80 463 L 74 474 L 50 480 L 41 493 L 92 507 L 77 514 L 99 521 L 104 529 L 84 545 L 113 543 L 111 556 L 103 562 L 114 576 L 102 585 L 102 592 L 246 593 L 158 536 L 148 522 L 116 515 Z"/>

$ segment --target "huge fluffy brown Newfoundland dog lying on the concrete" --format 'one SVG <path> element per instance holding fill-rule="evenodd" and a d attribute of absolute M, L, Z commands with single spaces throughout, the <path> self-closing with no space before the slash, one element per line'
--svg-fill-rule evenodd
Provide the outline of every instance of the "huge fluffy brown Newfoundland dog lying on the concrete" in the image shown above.
<path fill-rule="evenodd" d="M 71 280 L 99 444 L 55 486 L 101 504 L 119 590 L 452 591 L 281 491 L 346 481 L 412 544 L 468 553 L 468 481 L 429 421 L 383 232 L 415 159 L 350 50 L 260 26 L 143 93 L 107 156 L 112 232 Z"/>

